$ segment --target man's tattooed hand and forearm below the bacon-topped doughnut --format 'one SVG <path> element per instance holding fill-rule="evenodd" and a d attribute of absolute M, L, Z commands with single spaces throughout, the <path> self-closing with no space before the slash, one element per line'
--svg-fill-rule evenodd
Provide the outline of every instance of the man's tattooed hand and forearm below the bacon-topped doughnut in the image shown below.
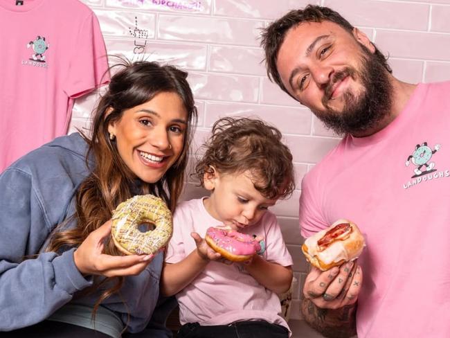
<path fill-rule="evenodd" d="M 356 335 L 356 310 L 362 272 L 354 262 L 321 272 L 312 267 L 303 294 L 303 318 L 325 337 Z"/>

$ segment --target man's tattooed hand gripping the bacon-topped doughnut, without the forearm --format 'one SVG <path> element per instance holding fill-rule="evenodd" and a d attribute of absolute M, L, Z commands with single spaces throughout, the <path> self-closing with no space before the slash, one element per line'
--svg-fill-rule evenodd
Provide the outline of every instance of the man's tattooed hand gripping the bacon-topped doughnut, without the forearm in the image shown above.
<path fill-rule="evenodd" d="M 303 294 L 318 308 L 338 309 L 356 303 L 362 283 L 363 272 L 356 261 L 325 272 L 312 267 L 306 276 Z"/>

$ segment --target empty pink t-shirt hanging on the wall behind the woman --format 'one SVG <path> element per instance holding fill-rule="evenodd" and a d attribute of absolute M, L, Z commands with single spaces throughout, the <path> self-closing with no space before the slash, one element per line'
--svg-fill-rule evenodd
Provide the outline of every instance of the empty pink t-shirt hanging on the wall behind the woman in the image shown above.
<path fill-rule="evenodd" d="M 98 20 L 78 0 L 0 1 L 0 172 L 66 134 L 73 99 L 109 80 Z"/>

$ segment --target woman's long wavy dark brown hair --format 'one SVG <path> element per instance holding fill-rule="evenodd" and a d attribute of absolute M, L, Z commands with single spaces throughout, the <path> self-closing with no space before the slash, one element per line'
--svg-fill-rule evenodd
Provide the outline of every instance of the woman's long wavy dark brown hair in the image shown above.
<path fill-rule="evenodd" d="M 184 184 L 184 170 L 188 162 L 188 148 L 193 127 L 197 121 L 197 109 L 192 91 L 186 80 L 188 73 L 174 66 L 159 65 L 156 62 L 127 62 L 116 64 L 120 70 L 114 74 L 105 94 L 102 95 L 93 116 L 91 135 L 82 134 L 89 145 L 87 165 L 93 158 L 95 163 L 91 174 L 82 181 L 76 195 L 76 226 L 67 231 L 57 231 L 51 238 L 48 251 L 59 251 L 66 246 L 78 247 L 89 233 L 98 229 L 111 218 L 112 212 L 129 197 L 132 197 L 136 181 L 116 148 L 116 142 L 109 139 L 108 125 L 119 121 L 126 109 L 152 100 L 156 94 L 172 92 L 179 95 L 188 112 L 188 125 L 179 159 L 155 184 L 138 182 L 142 193 L 161 197 L 171 211 L 175 206 Z M 135 190 L 135 189 L 134 189 Z M 105 246 L 105 253 L 120 255 L 112 241 Z M 120 290 L 124 278 L 114 278 L 116 283 L 102 293 L 98 305 L 114 292 Z M 100 285 L 111 285 L 111 278 L 96 278 L 96 283 L 86 293 L 93 292 Z"/>

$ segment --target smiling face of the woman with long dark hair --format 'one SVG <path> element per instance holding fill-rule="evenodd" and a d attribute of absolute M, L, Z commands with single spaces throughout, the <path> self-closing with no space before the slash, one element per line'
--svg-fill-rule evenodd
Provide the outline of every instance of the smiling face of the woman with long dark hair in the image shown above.
<path fill-rule="evenodd" d="M 129 170 L 147 183 L 156 183 L 183 151 L 188 112 L 178 94 L 162 92 L 127 109 L 108 132 L 116 136 L 118 153 Z"/>

